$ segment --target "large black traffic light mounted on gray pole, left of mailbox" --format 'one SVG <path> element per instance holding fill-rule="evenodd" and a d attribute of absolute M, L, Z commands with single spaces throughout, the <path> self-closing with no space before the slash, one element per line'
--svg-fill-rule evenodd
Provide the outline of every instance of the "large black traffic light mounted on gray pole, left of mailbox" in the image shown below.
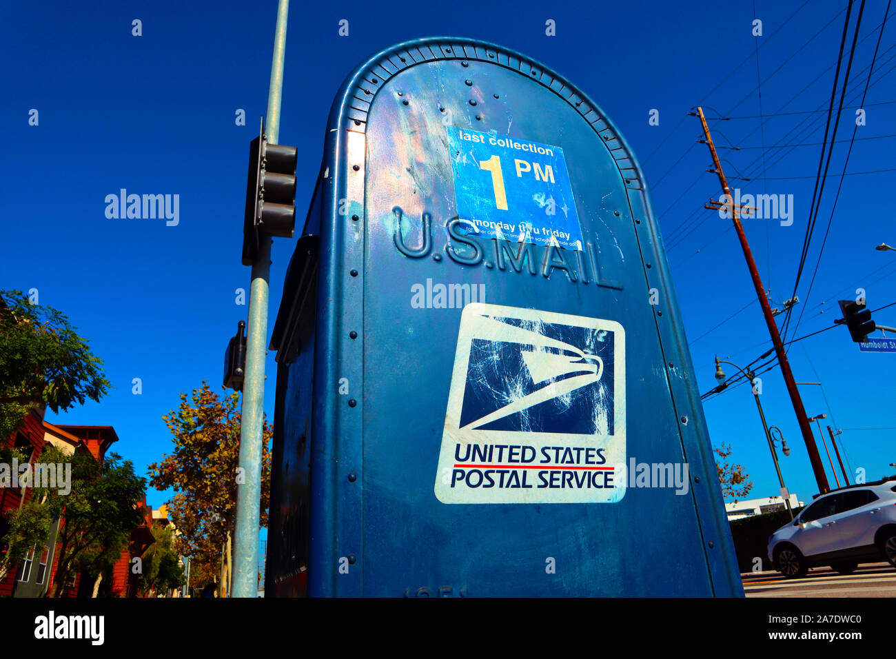
<path fill-rule="evenodd" d="M 249 145 L 244 265 L 253 263 L 263 238 L 292 238 L 296 226 L 296 162 L 296 147 L 268 143 L 263 127 Z"/>

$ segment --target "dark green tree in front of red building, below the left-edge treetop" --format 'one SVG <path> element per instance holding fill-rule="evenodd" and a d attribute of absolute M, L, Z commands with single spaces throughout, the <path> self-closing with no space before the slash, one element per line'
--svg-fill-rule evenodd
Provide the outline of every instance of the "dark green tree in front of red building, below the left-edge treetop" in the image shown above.
<path fill-rule="evenodd" d="M 134 473 L 130 460 L 122 462 L 113 453 L 98 463 L 79 451 L 71 462 L 72 491 L 66 496 L 50 490 L 47 499 L 56 516 L 64 516 L 56 534 L 58 562 L 50 597 L 61 596 L 61 585 L 73 568 L 91 553 L 102 551 L 102 542 L 130 537 L 146 512 L 139 503 L 146 494 L 146 481 Z"/>

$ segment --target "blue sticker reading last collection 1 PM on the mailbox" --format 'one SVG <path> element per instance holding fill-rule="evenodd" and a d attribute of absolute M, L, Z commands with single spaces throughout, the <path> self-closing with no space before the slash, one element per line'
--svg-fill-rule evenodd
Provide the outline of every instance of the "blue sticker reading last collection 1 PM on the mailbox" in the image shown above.
<path fill-rule="evenodd" d="M 445 126 L 457 213 L 468 232 L 582 249 L 582 227 L 563 149 Z"/>

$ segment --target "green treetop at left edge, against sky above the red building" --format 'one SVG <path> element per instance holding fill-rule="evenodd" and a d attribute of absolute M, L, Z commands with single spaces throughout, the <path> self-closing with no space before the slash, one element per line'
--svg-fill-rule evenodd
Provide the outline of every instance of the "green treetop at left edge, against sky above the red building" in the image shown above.
<path fill-rule="evenodd" d="M 102 360 L 74 330 L 61 312 L 30 304 L 21 290 L 0 291 L 0 438 L 34 407 L 59 412 L 106 395 Z"/>

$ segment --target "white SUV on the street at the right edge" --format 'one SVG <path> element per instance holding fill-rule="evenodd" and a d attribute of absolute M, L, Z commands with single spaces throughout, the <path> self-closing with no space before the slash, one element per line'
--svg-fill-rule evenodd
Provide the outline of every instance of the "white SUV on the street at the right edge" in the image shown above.
<path fill-rule="evenodd" d="M 822 565 L 844 575 L 882 559 L 896 567 L 896 481 L 851 485 L 815 499 L 771 534 L 769 559 L 788 578 Z"/>

